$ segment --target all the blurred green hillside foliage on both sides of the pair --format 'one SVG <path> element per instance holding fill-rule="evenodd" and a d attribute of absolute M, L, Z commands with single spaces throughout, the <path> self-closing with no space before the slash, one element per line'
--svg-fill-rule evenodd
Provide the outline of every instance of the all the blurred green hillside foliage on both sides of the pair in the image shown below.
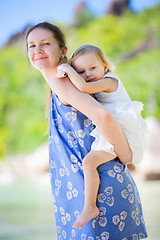
<path fill-rule="evenodd" d="M 69 55 L 83 44 L 99 46 L 116 63 L 133 100 L 144 103 L 143 116 L 160 119 L 160 5 L 140 13 L 93 19 L 77 29 L 59 26 L 67 36 Z M 153 47 L 124 61 L 123 56 L 151 40 Z M 0 158 L 28 152 L 47 140 L 44 121 L 45 81 L 27 63 L 18 46 L 0 51 Z"/>

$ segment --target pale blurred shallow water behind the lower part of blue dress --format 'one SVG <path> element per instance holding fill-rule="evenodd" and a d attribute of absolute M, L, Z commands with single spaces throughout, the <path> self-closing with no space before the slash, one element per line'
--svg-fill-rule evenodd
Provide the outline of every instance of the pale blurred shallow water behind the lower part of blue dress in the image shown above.
<path fill-rule="evenodd" d="M 160 181 L 136 179 L 148 240 L 160 239 Z M 26 180 L 0 186 L 1 240 L 56 240 L 50 185 Z M 79 239 L 77 239 L 79 240 Z"/>

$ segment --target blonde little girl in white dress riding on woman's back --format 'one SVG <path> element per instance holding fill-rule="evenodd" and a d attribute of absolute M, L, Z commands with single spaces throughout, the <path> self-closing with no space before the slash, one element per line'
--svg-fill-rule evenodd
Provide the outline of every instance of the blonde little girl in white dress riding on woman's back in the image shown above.
<path fill-rule="evenodd" d="M 147 130 L 146 123 L 140 115 L 143 104 L 131 101 L 122 82 L 113 74 L 113 67 L 98 47 L 81 46 L 72 54 L 69 63 L 70 65 L 62 64 L 57 68 L 57 76 L 59 78 L 68 76 L 79 91 L 94 94 L 95 98 L 113 114 L 132 150 L 132 162 L 139 163 L 143 157 Z M 73 225 L 75 228 L 82 227 L 99 214 L 96 206 L 99 188 L 97 167 L 104 161 L 104 159 L 102 161 L 104 151 L 106 162 L 117 156 L 113 144 L 106 141 L 97 127 L 91 132 L 91 136 L 95 137 L 95 141 L 82 163 L 85 177 L 85 205 Z"/>

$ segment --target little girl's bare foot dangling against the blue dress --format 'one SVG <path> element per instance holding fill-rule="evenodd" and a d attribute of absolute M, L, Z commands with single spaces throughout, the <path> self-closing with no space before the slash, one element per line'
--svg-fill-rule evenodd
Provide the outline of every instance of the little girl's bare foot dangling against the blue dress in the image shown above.
<path fill-rule="evenodd" d="M 86 207 L 83 209 L 77 221 L 73 224 L 73 228 L 81 228 L 86 223 L 88 223 L 91 219 L 97 217 L 99 214 L 99 209 L 97 207 Z"/>

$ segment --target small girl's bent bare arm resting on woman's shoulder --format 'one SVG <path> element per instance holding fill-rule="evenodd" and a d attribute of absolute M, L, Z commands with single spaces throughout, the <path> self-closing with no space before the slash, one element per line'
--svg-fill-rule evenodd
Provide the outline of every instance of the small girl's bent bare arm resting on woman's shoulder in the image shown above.
<path fill-rule="evenodd" d="M 61 64 L 57 70 L 66 73 L 80 92 L 88 94 L 102 91 L 114 92 L 118 87 L 118 81 L 114 78 L 102 78 L 94 82 L 86 82 L 69 64 Z M 59 76 L 61 75 L 59 74 Z"/>

